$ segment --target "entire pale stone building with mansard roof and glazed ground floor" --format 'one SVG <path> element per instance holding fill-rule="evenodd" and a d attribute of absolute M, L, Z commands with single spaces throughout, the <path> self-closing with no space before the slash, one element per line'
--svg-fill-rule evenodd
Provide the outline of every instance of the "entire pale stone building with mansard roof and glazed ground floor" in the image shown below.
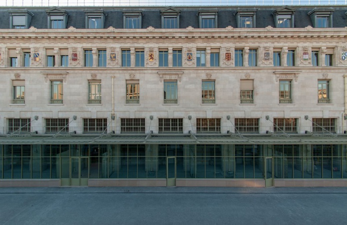
<path fill-rule="evenodd" d="M 0 186 L 347 186 L 346 13 L 1 8 Z"/>

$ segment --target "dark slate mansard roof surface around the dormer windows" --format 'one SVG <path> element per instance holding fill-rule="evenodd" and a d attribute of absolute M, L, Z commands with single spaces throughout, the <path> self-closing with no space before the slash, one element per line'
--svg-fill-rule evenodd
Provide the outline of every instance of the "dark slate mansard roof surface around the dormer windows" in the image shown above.
<path fill-rule="evenodd" d="M 180 13 L 180 28 L 186 28 L 192 26 L 194 28 L 199 28 L 199 9 L 217 9 L 218 10 L 218 27 L 225 28 L 227 26 L 233 26 L 237 28 L 236 16 L 234 13 L 238 9 L 257 9 L 256 12 L 256 27 L 266 27 L 273 26 L 275 27 L 273 11 L 281 8 L 282 6 L 259 6 L 259 7 L 226 7 L 226 6 L 217 6 L 217 7 L 175 7 L 181 10 Z M 318 6 L 316 6 L 318 7 Z M 50 7 L 25 7 L 28 11 L 32 12 L 34 15 L 31 18 L 30 26 L 34 26 L 38 29 L 47 28 L 47 13 L 46 9 Z M 61 7 L 66 10 L 69 14 L 67 19 L 67 27 L 73 26 L 77 29 L 85 28 L 85 7 Z M 105 17 L 104 28 L 113 26 L 114 28 L 123 28 L 123 11 L 124 10 L 142 10 L 142 28 L 147 28 L 152 26 L 156 29 L 161 28 L 161 15 L 160 10 L 165 8 L 163 7 L 105 7 L 103 8 L 104 12 L 107 14 Z M 311 17 L 308 13 L 315 8 L 315 6 L 292 6 L 295 8 L 295 27 L 304 28 L 308 25 L 313 26 Z M 320 9 L 328 8 L 320 6 Z M 333 27 L 346 27 L 347 26 L 347 6 L 338 6 L 334 5 L 333 12 Z M 9 28 L 9 13 L 8 11 L 13 9 L 13 7 L 1 7 L 0 8 L 0 29 Z M 21 7 L 15 7 L 15 9 L 21 9 Z M 23 8 L 24 9 L 24 8 Z M 88 9 L 100 9 L 98 7 L 88 7 Z"/>

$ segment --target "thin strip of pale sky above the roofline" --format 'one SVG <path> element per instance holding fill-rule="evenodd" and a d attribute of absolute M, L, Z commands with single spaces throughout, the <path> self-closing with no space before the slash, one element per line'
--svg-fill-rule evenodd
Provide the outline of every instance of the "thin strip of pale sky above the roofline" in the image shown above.
<path fill-rule="evenodd" d="M 347 0 L 0 0 L 0 6 L 334 5 Z"/>

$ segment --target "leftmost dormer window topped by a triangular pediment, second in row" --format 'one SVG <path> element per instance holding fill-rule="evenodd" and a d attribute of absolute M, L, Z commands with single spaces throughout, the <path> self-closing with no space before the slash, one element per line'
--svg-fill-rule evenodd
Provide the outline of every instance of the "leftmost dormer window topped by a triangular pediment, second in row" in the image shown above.
<path fill-rule="evenodd" d="M 68 13 L 61 8 L 52 7 L 46 10 L 48 29 L 65 29 Z"/>

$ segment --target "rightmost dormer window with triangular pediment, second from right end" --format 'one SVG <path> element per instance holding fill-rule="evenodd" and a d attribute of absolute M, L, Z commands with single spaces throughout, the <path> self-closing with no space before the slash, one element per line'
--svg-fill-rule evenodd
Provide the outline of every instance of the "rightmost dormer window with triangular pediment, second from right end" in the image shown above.
<path fill-rule="evenodd" d="M 273 11 L 275 27 L 291 28 L 294 27 L 295 8 L 283 6 Z"/>

